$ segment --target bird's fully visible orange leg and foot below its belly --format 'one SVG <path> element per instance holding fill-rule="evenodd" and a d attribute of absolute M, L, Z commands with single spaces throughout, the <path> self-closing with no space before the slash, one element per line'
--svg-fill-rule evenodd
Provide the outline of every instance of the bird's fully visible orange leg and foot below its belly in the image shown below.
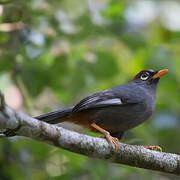
<path fill-rule="evenodd" d="M 112 147 L 112 144 L 114 144 L 115 150 L 117 151 L 118 145 L 117 145 L 117 143 L 115 142 L 115 141 L 119 141 L 117 138 L 112 137 L 108 131 L 106 131 L 106 130 L 104 130 L 103 128 L 99 127 L 99 126 L 98 126 L 97 124 L 95 124 L 95 123 L 92 123 L 91 126 L 104 135 L 104 136 L 100 136 L 100 137 L 101 137 L 101 138 L 102 138 L 102 137 L 105 137 L 111 147 Z"/>

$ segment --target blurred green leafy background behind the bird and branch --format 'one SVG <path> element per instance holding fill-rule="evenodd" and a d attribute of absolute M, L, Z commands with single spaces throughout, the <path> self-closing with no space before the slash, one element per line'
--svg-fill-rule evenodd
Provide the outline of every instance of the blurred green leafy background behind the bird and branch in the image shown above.
<path fill-rule="evenodd" d="M 9 106 L 36 116 L 125 83 L 142 69 L 168 68 L 153 117 L 123 142 L 180 153 L 179 17 L 174 0 L 1 0 L 0 89 Z M 0 179 L 24 178 L 178 179 L 23 137 L 1 139 Z"/>

